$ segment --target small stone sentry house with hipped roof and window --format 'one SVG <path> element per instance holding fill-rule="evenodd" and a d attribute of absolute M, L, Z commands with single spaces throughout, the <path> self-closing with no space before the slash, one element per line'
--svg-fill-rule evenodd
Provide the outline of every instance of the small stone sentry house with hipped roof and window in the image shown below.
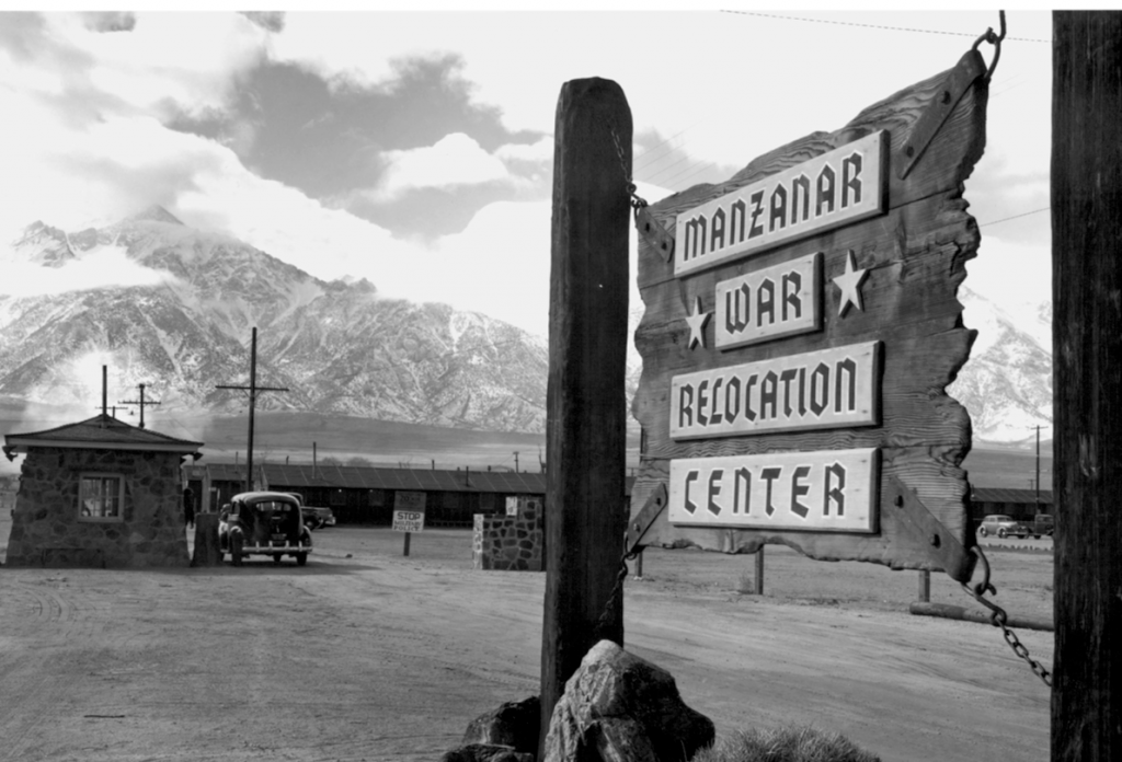
<path fill-rule="evenodd" d="M 26 454 L 8 566 L 187 566 L 181 466 L 200 442 L 101 413 L 45 431 L 9 434 Z"/>

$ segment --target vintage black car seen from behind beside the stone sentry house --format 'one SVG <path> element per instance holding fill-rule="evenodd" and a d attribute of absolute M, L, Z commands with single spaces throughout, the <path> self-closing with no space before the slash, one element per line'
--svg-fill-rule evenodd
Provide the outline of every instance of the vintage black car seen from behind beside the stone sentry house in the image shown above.
<path fill-rule="evenodd" d="M 307 564 L 312 532 L 304 526 L 300 500 L 286 492 L 236 494 L 219 515 L 218 541 L 234 566 L 246 556 L 273 556 L 279 563 L 292 556 Z"/>

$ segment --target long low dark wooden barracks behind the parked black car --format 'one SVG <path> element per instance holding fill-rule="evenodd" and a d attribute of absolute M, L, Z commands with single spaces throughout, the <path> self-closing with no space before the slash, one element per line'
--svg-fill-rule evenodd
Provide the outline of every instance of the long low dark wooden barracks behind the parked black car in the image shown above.
<path fill-rule="evenodd" d="M 545 495 L 544 473 L 309 464 L 265 464 L 254 472 L 258 489 L 295 492 L 305 504 L 327 505 L 339 523 L 351 524 L 393 523 L 398 491 L 425 493 L 426 527 L 471 527 L 476 513 L 505 514 L 507 498 Z M 186 466 L 185 477 L 199 510 L 217 511 L 245 490 L 246 466 Z M 633 481 L 626 482 L 628 491 Z"/>

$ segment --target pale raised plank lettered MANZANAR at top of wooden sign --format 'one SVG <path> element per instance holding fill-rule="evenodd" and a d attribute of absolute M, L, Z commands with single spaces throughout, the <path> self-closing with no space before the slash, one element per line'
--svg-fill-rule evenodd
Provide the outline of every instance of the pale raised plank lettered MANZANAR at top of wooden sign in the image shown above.
<path fill-rule="evenodd" d="M 679 214 L 674 275 L 883 214 L 888 145 L 881 130 Z"/>

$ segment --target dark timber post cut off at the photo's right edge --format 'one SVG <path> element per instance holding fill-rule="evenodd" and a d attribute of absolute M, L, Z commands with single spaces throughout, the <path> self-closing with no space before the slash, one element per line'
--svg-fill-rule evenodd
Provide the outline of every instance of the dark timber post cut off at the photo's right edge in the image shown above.
<path fill-rule="evenodd" d="M 1122 13 L 1052 31 L 1051 759 L 1122 760 Z"/>

